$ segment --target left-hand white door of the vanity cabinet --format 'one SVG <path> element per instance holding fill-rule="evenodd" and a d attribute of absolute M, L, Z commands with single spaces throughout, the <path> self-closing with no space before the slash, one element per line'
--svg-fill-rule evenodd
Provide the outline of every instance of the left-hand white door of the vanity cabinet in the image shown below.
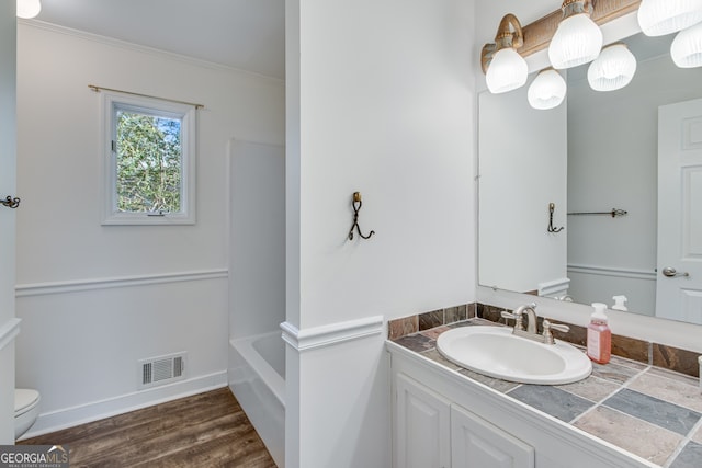
<path fill-rule="evenodd" d="M 395 468 L 450 468 L 451 402 L 404 374 L 395 379 Z"/>

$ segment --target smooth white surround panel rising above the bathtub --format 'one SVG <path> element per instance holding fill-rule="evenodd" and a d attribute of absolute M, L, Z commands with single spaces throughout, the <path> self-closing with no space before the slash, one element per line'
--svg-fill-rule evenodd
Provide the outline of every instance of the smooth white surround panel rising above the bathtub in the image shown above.
<path fill-rule="evenodd" d="M 285 147 L 229 141 L 229 340 L 285 320 Z"/>

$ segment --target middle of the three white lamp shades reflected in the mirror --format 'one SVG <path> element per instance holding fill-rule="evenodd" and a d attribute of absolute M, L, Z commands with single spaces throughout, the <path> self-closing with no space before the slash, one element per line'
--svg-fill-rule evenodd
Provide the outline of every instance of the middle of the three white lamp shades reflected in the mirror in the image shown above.
<path fill-rule="evenodd" d="M 588 68 L 588 82 L 595 91 L 624 88 L 636 72 L 636 57 L 625 44 L 612 44 L 602 49 Z"/>

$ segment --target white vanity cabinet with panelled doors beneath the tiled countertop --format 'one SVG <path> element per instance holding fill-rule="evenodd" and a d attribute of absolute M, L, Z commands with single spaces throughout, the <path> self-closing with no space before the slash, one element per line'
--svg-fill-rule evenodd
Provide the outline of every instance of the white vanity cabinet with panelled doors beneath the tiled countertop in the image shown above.
<path fill-rule="evenodd" d="M 394 468 L 653 468 L 650 464 L 387 342 Z"/>

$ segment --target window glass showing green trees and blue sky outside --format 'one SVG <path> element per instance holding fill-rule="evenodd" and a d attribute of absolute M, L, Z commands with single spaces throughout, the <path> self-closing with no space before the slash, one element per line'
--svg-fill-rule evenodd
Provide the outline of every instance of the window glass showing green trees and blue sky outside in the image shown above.
<path fill-rule="evenodd" d="M 117 209 L 181 210 L 181 121 L 116 111 Z"/>

